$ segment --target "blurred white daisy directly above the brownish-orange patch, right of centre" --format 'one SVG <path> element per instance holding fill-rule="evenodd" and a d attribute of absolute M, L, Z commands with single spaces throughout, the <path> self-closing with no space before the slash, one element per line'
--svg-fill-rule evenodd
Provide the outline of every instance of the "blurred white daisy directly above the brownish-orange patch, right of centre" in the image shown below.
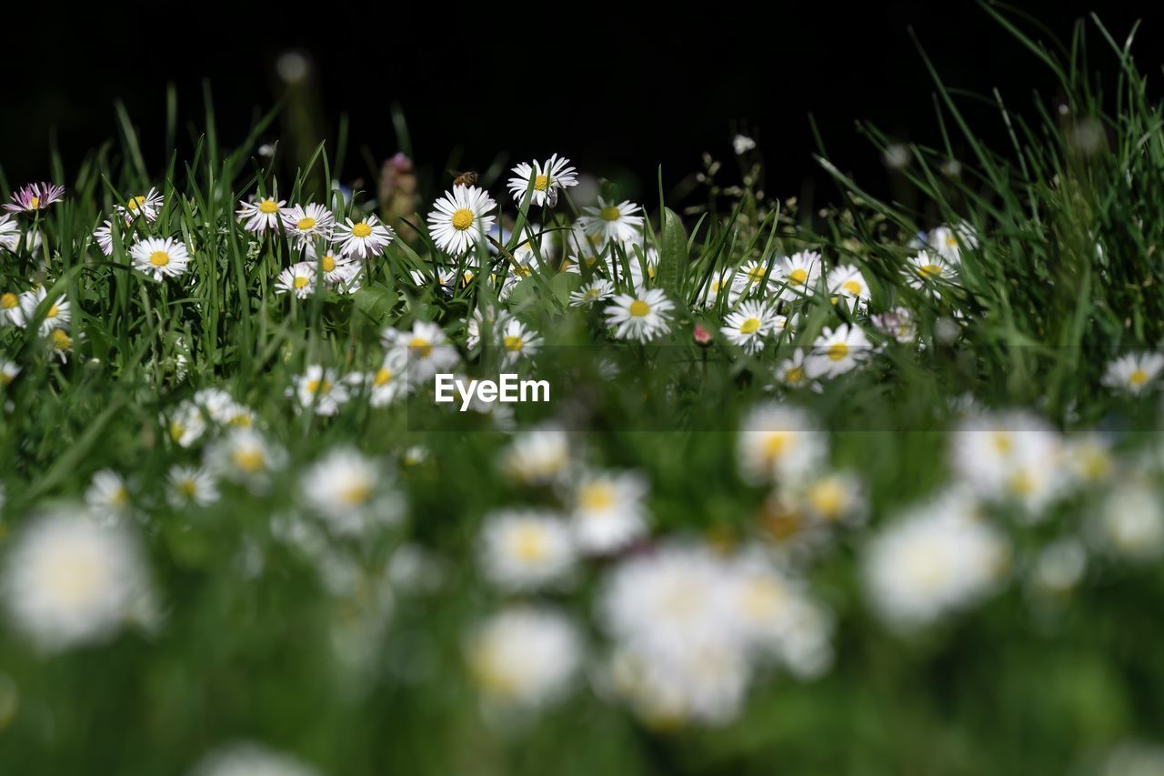
<path fill-rule="evenodd" d="M 748 412 L 737 439 L 740 474 L 750 482 L 799 482 L 829 454 L 828 437 L 794 407 L 769 403 Z"/>

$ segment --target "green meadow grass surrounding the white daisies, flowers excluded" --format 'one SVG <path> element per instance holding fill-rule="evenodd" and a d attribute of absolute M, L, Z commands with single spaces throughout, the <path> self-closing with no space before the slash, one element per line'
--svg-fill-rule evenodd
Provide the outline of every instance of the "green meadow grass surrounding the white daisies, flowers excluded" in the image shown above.
<path fill-rule="evenodd" d="M 332 188 L 335 161 L 325 146 L 293 178 L 277 176 L 279 151 L 275 160 L 255 154 L 274 113 L 237 147 L 220 146 L 208 90 L 205 134 L 189 160 L 144 158 L 119 106 L 116 143 L 76 170 L 51 161 L 66 199 L 19 217 L 22 230 L 43 234 L 41 249 L 29 252 L 21 241 L 20 249 L 0 252 L 0 292 L 36 283 L 50 298 L 64 295 L 73 339 L 62 362 L 36 333 L 49 303 L 27 327 L 0 327 L 0 360 L 20 367 L 2 394 L 0 551 L 8 567 L 38 515 L 80 501 L 95 472 L 119 472 L 132 501 L 122 522 L 144 546 L 157 616 L 150 628 L 127 626 L 108 642 L 50 654 L 15 626 L 0 629 L 0 771 L 186 773 L 207 752 L 248 739 L 348 776 L 1050 774 L 1091 773 L 1113 747 L 1158 739 L 1159 559 L 1136 562 L 1092 536 L 1112 493 L 1147 480 L 1161 495 L 1158 457 L 1144 463 L 1159 450 L 1159 394 L 1129 397 L 1101 379 L 1119 352 L 1159 351 L 1162 112 L 1131 61 L 1130 38 L 1112 38 L 1096 21 L 1090 36 L 1080 24 L 1067 44 L 1044 44 L 1009 17 L 999 20 L 1055 75 L 1062 103 L 1018 110 L 999 94 L 959 93 L 935 72 L 944 142 L 910 146 L 902 170 L 924 202 L 921 212 L 868 196 L 826 161 L 825 149 L 821 161 L 840 205 L 822 217 L 745 184 L 681 218 L 660 175 L 659 202 L 643 203 L 641 245 L 619 246 L 612 259 L 625 288 L 632 262 L 643 262 L 648 248 L 658 252 L 651 284 L 675 311 L 670 333 L 650 344 L 616 341 L 601 306 L 568 305 L 583 276 L 556 267 L 582 203 L 566 193 L 553 213 L 528 195 L 514 203 L 504 170 L 482 183 L 513 219 L 512 233 L 539 224 L 558 254 L 539 248 L 535 270 L 506 301 L 487 273 L 452 289 L 412 282 L 412 270 L 431 276 L 441 266 L 460 274 L 480 261 L 496 268 L 499 284 L 519 247 L 518 238 L 495 241 L 496 255 L 480 247 L 471 261 L 439 252 L 425 214 L 440 191 L 424 192 L 419 213 L 379 213 L 413 234 L 368 262 L 357 292 L 327 290 L 301 301 L 276 295 L 275 277 L 297 253 L 282 234 L 256 239 L 243 231 L 234 217 L 239 200 L 275 191 L 278 178 L 279 198 L 325 203 L 342 221 L 359 218 L 371 195 L 346 198 Z M 1114 92 L 1100 89 L 1092 57 L 1114 59 Z M 924 55 L 922 63 L 929 66 Z M 1010 147 L 977 140 L 965 118 L 974 100 L 996 107 Z M 168 148 L 176 133 L 172 96 L 170 106 Z M 870 153 L 890 144 L 875 127 L 864 133 Z M 946 164 L 954 148 L 968 149 L 957 158 L 958 175 Z M 764 150 L 769 161 L 776 153 Z M 751 171 L 759 153 L 739 162 Z M 156 221 L 139 219 L 126 230 L 179 238 L 192 256 L 180 281 L 155 283 L 132 268 L 120 242 L 106 258 L 92 238 L 115 205 L 150 186 L 164 207 Z M 0 188 L 7 196 L 12 186 Z M 943 223 L 970 225 L 978 246 L 963 251 L 957 280 L 930 296 L 907 283 L 901 268 L 916 253 L 914 237 Z M 803 249 L 819 251 L 829 267 L 857 266 L 872 289 L 870 311 L 909 309 L 923 347 L 885 343 L 866 311 L 833 304 L 824 289 L 781 303 L 782 312 L 800 316 L 799 325 L 761 354 L 726 341 L 719 327 L 732 305 L 726 294 L 704 305 L 709 280 L 750 261 L 771 273 L 779 258 Z M 355 391 L 334 417 L 297 411 L 286 395 L 311 365 L 341 375 L 375 372 L 382 331 L 414 322 L 445 330 L 462 359 L 459 372 L 496 374 L 496 351 L 466 345 L 466 320 L 489 305 L 510 310 L 545 339 L 540 357 L 519 371 L 548 380 L 554 401 L 517 407 L 517 431 L 447 411 L 424 394 L 374 408 Z M 697 324 L 714 332 L 710 347 L 693 340 Z M 768 389 L 778 362 L 811 346 L 824 327 L 844 324 L 885 347 L 864 367 L 823 381 L 819 393 Z M 617 361 L 620 374 L 601 376 L 599 359 Z M 217 503 L 176 509 L 166 500 L 168 471 L 199 464 L 219 432 L 182 447 L 168 418 L 210 387 L 251 408 L 256 426 L 286 450 L 289 463 L 264 493 L 222 481 Z M 1014 503 L 989 503 L 982 520 L 1010 548 L 998 590 L 930 627 L 895 633 L 870 606 L 863 558 L 871 537 L 901 510 L 954 479 L 947 431 L 960 422 L 952 402 L 966 395 L 984 408 L 1031 408 L 1065 433 L 1105 432 L 1114 470 L 1065 491 L 1035 524 Z M 829 431 L 825 470 L 854 472 L 863 482 L 867 522 L 829 527 L 828 549 L 795 569 L 836 622 L 831 668 L 809 680 L 759 671 L 740 712 L 722 726 L 652 725 L 585 679 L 547 708 L 502 714 L 498 722 L 466 670 L 473 625 L 514 598 L 552 604 L 583 634 L 590 671 L 610 646 L 596 601 L 626 557 L 584 560 L 566 592 L 512 597 L 483 578 L 477 543 L 490 512 L 563 503 L 560 491 L 504 474 L 499 461 L 514 433 L 554 419 L 570 429 L 576 459 L 641 472 L 651 486 L 655 546 L 682 539 L 771 549 L 766 499 L 774 487 L 789 492 L 800 484 L 746 481 L 736 451 L 748 410 L 768 401 L 817 418 Z M 405 517 L 359 537 L 325 531 L 322 549 L 305 550 L 286 541 L 281 521 L 306 514 L 318 524 L 300 487 L 313 461 L 346 445 L 392 472 L 382 487 L 404 499 Z M 428 451 L 419 463 L 407 452 L 417 445 Z M 1083 579 L 1062 600 L 1032 592 L 1041 551 L 1074 538 L 1088 548 Z M 439 588 L 381 584 L 405 545 L 438 559 Z M 342 591 L 328 585 L 336 558 L 357 570 L 357 581 Z M 12 713 L 2 713 L 8 706 Z"/>

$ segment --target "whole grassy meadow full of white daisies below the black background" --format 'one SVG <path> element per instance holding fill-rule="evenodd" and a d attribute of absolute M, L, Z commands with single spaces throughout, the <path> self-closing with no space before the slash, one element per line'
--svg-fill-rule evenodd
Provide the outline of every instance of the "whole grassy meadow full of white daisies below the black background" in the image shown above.
<path fill-rule="evenodd" d="M 1164 117 L 1099 37 L 1010 148 L 866 128 L 917 210 L 744 135 L 681 212 L 353 191 L 210 112 L 0 176 L 0 773 L 1164 774 Z"/>

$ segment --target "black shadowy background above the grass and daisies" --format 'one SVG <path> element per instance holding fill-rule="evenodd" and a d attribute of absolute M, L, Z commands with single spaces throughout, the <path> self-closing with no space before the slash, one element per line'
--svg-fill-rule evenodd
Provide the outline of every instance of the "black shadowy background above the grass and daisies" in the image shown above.
<path fill-rule="evenodd" d="M 1134 49 L 1158 73 L 1164 55 L 1161 3 L 1067 0 L 1024 2 L 1045 31 L 1070 40 L 1076 19 L 1100 15 L 1122 37 L 1144 26 Z M 426 7 L 427 8 L 427 7 Z M 8 12 L 6 12 L 8 14 Z M 829 155 L 873 191 L 886 186 L 879 154 L 856 130 L 870 120 L 895 137 L 937 139 L 932 82 L 917 40 L 951 86 L 1027 108 L 1031 92 L 1053 97 L 1045 69 L 991 15 L 966 0 L 902 0 L 845 7 L 712 2 L 700 15 L 680 6 L 647 13 L 623 3 L 545 5 L 528 10 L 436 6 L 368 9 L 324 3 L 229 8 L 123 5 L 92 10 L 56 6 L 38 17 L 9 16 L 0 117 L 0 163 L 9 185 L 48 177 L 50 139 L 69 176 L 91 148 L 114 137 L 113 98 L 125 101 L 147 163 L 164 163 L 165 85 L 178 93 L 179 150 L 204 125 L 201 83 L 210 79 L 221 142 L 237 143 L 285 89 L 275 66 L 289 51 L 311 63 L 296 115 L 270 136 L 334 141 L 349 119 L 347 179 L 398 149 L 389 106 L 406 117 L 421 168 L 485 170 L 498 161 L 553 151 L 580 168 L 637 177 L 651 188 L 656 165 L 668 184 L 696 171 L 701 153 L 730 158 L 736 129 L 761 144 L 768 190 L 796 195 L 830 186 L 811 158 L 809 114 Z M 1095 68 L 1114 58 L 1094 28 Z M 531 47 L 534 52 L 531 52 Z M 996 114 L 977 125 L 994 146 Z M 448 176 L 438 182 L 447 183 Z"/>

